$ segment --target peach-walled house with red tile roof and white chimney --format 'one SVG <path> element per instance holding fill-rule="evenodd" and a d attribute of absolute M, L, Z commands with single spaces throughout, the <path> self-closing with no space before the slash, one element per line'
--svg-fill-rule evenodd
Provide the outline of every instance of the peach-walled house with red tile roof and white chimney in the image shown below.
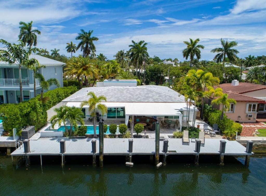
<path fill-rule="evenodd" d="M 215 87 L 216 88 L 216 87 Z M 220 84 L 228 98 L 236 100 L 230 104 L 226 116 L 235 122 L 256 122 L 257 118 L 263 118 L 266 114 L 266 86 L 233 80 L 232 83 Z M 210 104 L 212 99 L 205 98 Z M 208 101 L 208 102 L 207 102 Z M 222 105 L 215 105 L 214 108 L 222 110 Z"/>

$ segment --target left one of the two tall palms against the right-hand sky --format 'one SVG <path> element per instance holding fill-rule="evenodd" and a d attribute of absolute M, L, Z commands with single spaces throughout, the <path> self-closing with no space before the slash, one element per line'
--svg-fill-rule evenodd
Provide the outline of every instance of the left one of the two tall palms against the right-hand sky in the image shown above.
<path fill-rule="evenodd" d="M 197 43 L 200 41 L 199 38 L 196 40 L 193 40 L 189 38 L 190 41 L 184 41 L 184 44 L 186 44 L 186 48 L 182 51 L 183 57 L 188 59 L 190 57 L 190 67 L 192 66 L 192 61 L 194 59 L 194 56 L 196 55 L 197 59 L 201 58 L 201 51 L 200 49 L 204 49 L 203 45 L 197 45 Z"/>

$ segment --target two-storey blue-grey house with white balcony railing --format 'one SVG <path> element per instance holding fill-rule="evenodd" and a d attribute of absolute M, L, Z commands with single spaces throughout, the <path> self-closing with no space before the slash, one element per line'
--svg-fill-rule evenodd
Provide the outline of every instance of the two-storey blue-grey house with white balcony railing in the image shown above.
<path fill-rule="evenodd" d="M 30 55 L 30 58 L 35 58 L 41 65 L 46 67 L 38 70 L 45 80 L 49 78 L 56 78 L 60 82 L 60 86 L 63 87 L 63 66 L 65 63 L 46 58 L 37 54 Z M 22 67 L 22 90 L 23 100 L 29 100 L 34 97 L 33 87 L 33 71 Z M 56 88 L 54 85 L 50 87 L 50 90 Z M 39 80 L 36 79 L 36 92 L 41 92 Z M 19 69 L 17 65 L 9 65 L 7 62 L 0 62 L 0 104 L 3 103 L 19 103 L 20 91 L 19 91 Z"/>

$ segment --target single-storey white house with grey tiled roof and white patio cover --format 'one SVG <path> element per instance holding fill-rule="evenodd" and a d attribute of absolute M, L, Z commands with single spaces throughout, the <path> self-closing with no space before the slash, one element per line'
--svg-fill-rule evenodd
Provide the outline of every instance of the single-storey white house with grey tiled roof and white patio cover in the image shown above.
<path fill-rule="evenodd" d="M 155 85 L 136 86 L 136 82 L 132 80 L 128 80 L 128 82 L 135 84 L 135 86 L 128 86 L 129 83 L 126 80 L 115 80 L 113 82 L 115 86 L 109 86 L 112 82 L 108 81 L 108 86 L 99 87 L 97 84 L 98 87 L 82 88 L 64 99 L 63 102 L 67 106 L 80 108 L 81 102 L 90 98 L 87 95 L 88 92 L 92 91 L 96 96 L 104 95 L 107 98 L 107 102 L 102 102 L 108 108 L 107 114 L 102 116 L 101 112 L 97 111 L 99 118 L 103 120 L 123 121 L 126 125 L 132 115 L 163 121 L 178 120 L 180 125 L 182 125 L 181 119 L 186 120 L 187 104 L 185 97 L 171 88 Z M 85 106 L 82 111 L 86 120 L 91 118 L 88 106 Z M 193 111 L 194 105 L 191 105 L 190 121 L 193 119 Z"/>

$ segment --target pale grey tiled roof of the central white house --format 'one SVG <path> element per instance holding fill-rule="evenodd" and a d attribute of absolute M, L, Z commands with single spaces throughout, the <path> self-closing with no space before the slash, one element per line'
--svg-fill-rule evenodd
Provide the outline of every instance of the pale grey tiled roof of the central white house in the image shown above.
<path fill-rule="evenodd" d="M 97 96 L 104 95 L 107 102 L 185 102 L 184 96 L 164 86 L 137 86 L 137 87 L 87 87 L 82 88 L 63 101 L 81 102 L 90 98 L 88 92 L 94 92 Z"/>

